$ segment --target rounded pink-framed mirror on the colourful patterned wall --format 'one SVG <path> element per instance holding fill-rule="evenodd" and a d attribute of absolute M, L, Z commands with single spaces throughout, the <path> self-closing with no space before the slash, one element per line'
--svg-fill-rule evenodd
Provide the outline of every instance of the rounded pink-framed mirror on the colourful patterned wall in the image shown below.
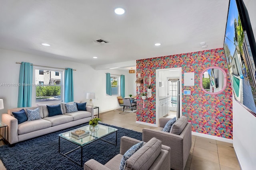
<path fill-rule="evenodd" d="M 202 71 L 200 86 L 208 94 L 219 94 L 227 86 L 227 74 L 223 68 L 211 66 Z"/>

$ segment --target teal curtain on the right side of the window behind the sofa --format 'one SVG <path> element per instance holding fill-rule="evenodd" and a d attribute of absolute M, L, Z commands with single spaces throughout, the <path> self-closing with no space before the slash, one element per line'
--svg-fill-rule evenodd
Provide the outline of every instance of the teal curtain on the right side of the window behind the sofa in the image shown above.
<path fill-rule="evenodd" d="M 65 97 L 64 102 L 74 101 L 73 69 L 65 68 Z"/>

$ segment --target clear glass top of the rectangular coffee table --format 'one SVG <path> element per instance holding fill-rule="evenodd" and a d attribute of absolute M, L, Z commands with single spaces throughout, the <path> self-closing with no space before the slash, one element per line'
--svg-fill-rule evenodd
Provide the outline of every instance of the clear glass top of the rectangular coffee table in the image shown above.
<path fill-rule="evenodd" d="M 114 133 L 115 131 L 117 131 L 117 129 L 114 127 L 109 127 L 109 126 L 98 124 L 99 130 L 97 132 L 91 132 L 89 130 L 89 127 L 90 127 L 90 125 L 86 125 L 86 126 L 72 130 L 72 131 L 76 131 L 78 129 L 82 129 L 84 131 L 88 131 L 89 132 L 88 135 L 85 135 L 84 137 L 76 137 L 71 134 L 72 131 L 60 133 L 59 137 L 62 137 L 68 141 L 76 143 L 77 145 L 84 146 L 84 145 L 87 145 L 88 143 L 91 143 L 91 142 L 93 142 L 97 139 L 100 139 L 106 135 L 109 135 L 110 133 Z"/>

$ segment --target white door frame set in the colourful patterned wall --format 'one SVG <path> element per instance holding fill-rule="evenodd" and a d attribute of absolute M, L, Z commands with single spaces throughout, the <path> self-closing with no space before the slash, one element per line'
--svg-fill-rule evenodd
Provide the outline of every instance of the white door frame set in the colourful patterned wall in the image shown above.
<path fill-rule="evenodd" d="M 159 125 L 159 73 L 162 71 L 174 71 L 178 70 L 180 75 L 180 116 L 182 115 L 182 68 L 164 68 L 164 69 L 156 69 L 156 125 Z"/>

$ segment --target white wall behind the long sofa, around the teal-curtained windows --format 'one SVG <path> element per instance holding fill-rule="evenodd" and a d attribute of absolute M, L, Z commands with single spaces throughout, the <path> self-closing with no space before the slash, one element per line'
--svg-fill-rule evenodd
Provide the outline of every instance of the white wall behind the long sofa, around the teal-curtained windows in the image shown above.
<path fill-rule="evenodd" d="M 17 107 L 18 86 L 3 86 L 4 83 L 18 83 L 20 64 L 16 64 L 16 62 L 24 61 L 42 66 L 76 69 L 73 72 L 74 101 L 89 102 L 86 99 L 86 92 L 95 92 L 96 99 L 93 100 L 93 104 L 100 107 L 100 113 L 120 107 L 116 96 L 108 96 L 106 94 L 106 72 L 125 75 L 126 96 L 136 94 L 136 74 L 129 74 L 128 70 L 94 70 L 86 64 L 5 49 L 0 49 L 0 59 L 0 98 L 4 100 L 4 109 L 0 110 L 0 120 L 2 120 L 2 113 L 7 113 L 8 109 Z"/>

